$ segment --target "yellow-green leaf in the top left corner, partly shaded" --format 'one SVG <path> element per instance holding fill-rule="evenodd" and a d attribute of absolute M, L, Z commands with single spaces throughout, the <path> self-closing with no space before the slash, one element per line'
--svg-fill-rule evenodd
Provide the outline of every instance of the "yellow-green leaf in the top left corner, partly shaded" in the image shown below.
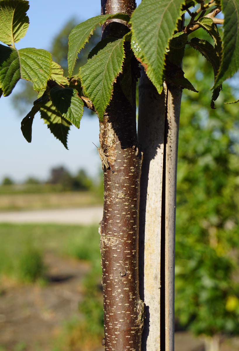
<path fill-rule="evenodd" d="M 0 2 L 0 41 L 14 46 L 14 42 L 25 37 L 29 26 L 29 18 L 26 15 L 28 9 L 29 1 L 2 0 Z"/>

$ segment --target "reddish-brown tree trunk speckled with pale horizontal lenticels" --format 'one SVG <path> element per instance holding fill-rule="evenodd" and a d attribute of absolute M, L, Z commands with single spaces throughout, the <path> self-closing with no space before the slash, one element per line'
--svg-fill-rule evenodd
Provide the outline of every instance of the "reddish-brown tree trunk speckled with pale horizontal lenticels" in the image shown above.
<path fill-rule="evenodd" d="M 102 0 L 104 13 L 131 14 L 134 0 Z M 103 29 L 102 37 L 122 37 L 122 21 Z M 100 122 L 100 145 L 110 169 L 104 170 L 104 208 L 100 226 L 105 350 L 140 351 L 144 309 L 138 283 L 138 218 L 142 153 L 137 144 L 136 105 L 122 92 L 119 78 Z M 133 96 L 136 79 L 132 75 Z"/>

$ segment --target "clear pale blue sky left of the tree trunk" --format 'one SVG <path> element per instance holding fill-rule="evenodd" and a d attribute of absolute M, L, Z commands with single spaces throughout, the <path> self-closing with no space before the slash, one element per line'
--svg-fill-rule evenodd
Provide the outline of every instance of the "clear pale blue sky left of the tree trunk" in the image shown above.
<path fill-rule="evenodd" d="M 100 14 L 100 0 L 30 0 L 28 16 L 30 25 L 26 37 L 21 39 L 16 48 L 36 47 L 49 49 L 53 37 L 73 16 L 80 21 Z M 140 1 L 137 1 L 138 4 Z M 20 84 L 15 89 L 19 89 Z M 98 145 L 99 124 L 96 117 L 83 116 L 80 130 L 71 127 L 66 150 L 56 140 L 47 126 L 36 115 L 33 122 L 32 143 L 23 138 L 20 126 L 25 115 L 18 115 L 11 106 L 12 99 L 0 99 L 0 182 L 10 176 L 23 181 L 28 176 L 46 179 L 49 169 L 64 165 L 71 172 L 85 168 L 91 176 L 98 174 L 101 162 L 92 141 Z"/>

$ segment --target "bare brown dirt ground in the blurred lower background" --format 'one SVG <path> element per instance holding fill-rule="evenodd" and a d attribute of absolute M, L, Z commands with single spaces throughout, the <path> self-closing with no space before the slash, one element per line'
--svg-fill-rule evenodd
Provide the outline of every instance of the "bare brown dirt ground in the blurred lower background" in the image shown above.
<path fill-rule="evenodd" d="M 77 313 L 82 298 L 82 279 L 87 263 L 47 253 L 46 286 L 4 284 L 0 294 L 0 350 L 51 351 L 49 340 L 58 335 L 64 321 Z M 25 345 L 21 349 L 21 345 Z M 225 340 L 221 351 L 238 351 L 239 339 Z M 96 351 L 96 350 L 95 350 Z M 100 346 L 99 350 L 103 351 Z M 176 332 L 175 351 L 204 351 L 202 340 Z"/>

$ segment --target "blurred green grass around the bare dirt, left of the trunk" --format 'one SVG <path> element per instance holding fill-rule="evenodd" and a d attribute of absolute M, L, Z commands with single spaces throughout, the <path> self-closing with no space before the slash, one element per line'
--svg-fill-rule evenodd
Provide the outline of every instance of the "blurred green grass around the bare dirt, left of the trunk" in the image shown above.
<path fill-rule="evenodd" d="M 84 317 L 80 320 L 79 317 L 66 320 L 57 336 L 49 340 L 47 350 L 91 351 L 95 350 L 95 345 L 100 345 L 103 335 L 103 306 L 99 241 L 97 225 L 0 224 L 0 298 L 4 298 L 6 283 L 8 289 L 12 289 L 11 286 L 14 290 L 19 287 L 19 291 L 22 284 L 26 283 L 36 283 L 37 289 L 44 288 L 46 284 L 50 288 L 51 283 L 46 279 L 47 267 L 44 264 L 44 257 L 48 252 L 55 257 L 62 257 L 62 261 L 66 263 L 67 259 L 70 261 L 72 258 L 88 261 L 88 273 L 81 287 L 83 298 L 78 304 L 79 316 Z M 10 349 L 28 351 L 28 345 L 19 340 Z M 10 349 L 0 343 L 0 351 Z M 41 348 L 37 350 L 43 351 Z"/>

